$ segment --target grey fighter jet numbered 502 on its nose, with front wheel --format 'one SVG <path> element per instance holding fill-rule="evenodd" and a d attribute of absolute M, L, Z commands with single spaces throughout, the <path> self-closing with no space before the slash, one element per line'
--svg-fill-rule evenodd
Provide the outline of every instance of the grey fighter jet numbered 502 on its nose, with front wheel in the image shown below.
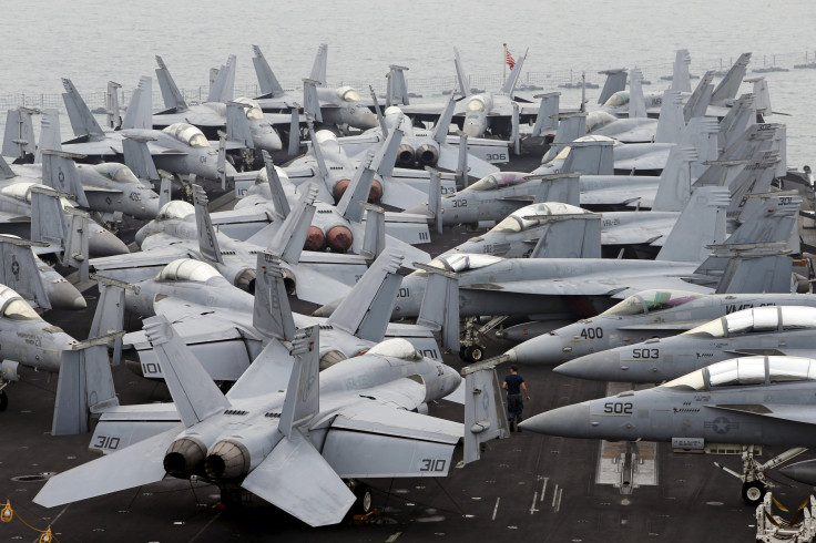
<path fill-rule="evenodd" d="M 816 361 L 796 357 L 745 357 L 716 362 L 660 387 L 621 392 L 539 413 L 523 430 L 623 441 L 671 441 L 674 448 L 790 445 L 765 464 L 744 452 L 742 495 L 756 505 L 773 485 L 765 470 L 816 445 L 813 423 Z M 718 464 L 717 464 L 718 465 Z"/>

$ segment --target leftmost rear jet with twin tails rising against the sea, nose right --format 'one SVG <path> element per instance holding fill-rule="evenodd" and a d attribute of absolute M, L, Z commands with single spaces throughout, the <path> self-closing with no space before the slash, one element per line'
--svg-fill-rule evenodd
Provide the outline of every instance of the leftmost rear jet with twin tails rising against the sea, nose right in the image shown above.
<path fill-rule="evenodd" d="M 155 166 L 180 175 L 194 174 L 218 181 L 235 175 L 224 153 L 213 148 L 201 130 L 190 123 L 171 124 L 153 130 L 153 94 L 151 79 L 143 76 L 131 96 L 122 130 L 103 132 L 70 80 L 62 80 L 65 109 L 75 139 L 62 143 L 62 150 L 89 157 L 122 156 L 126 139 L 147 143 Z M 243 145 L 241 145 L 243 146 Z"/>

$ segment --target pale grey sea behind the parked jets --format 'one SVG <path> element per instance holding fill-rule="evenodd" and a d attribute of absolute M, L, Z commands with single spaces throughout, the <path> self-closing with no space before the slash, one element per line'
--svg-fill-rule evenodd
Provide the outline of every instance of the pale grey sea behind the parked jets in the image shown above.
<path fill-rule="evenodd" d="M 790 115 L 768 117 L 788 125 L 788 165 L 816 162 L 809 105 L 816 70 L 793 69 L 805 62 L 806 53 L 816 60 L 813 0 L 32 0 L 4 11 L 0 98 L 58 94 L 62 76 L 83 94 L 103 91 L 109 80 L 133 88 L 140 75 L 154 74 L 155 54 L 164 58 L 178 86 L 190 89 L 205 86 L 208 69 L 235 53 L 238 89 L 255 82 L 254 43 L 285 86 L 297 86 L 308 75 L 315 51 L 325 42 L 329 83 L 381 88 L 388 65 L 396 63 L 409 68 L 408 84 L 420 93 L 424 81 L 453 75 L 453 47 L 475 76 L 500 76 L 507 43 L 517 58 L 529 49 L 522 81 L 529 74 L 572 71 L 578 78 L 585 71 L 588 80 L 602 83 L 599 70 L 638 65 L 652 81 L 645 92 L 667 85 L 660 76 L 671 73 L 677 49 L 688 49 L 693 74 L 752 51 L 748 78 L 752 68 L 774 61 L 792 69 L 765 74 L 774 111 Z M 554 83 L 543 92 L 558 90 Z M 744 84 L 743 91 L 749 90 Z M 563 104 L 578 104 L 579 92 L 562 92 Z M 591 106 L 598 92 L 588 91 Z"/>

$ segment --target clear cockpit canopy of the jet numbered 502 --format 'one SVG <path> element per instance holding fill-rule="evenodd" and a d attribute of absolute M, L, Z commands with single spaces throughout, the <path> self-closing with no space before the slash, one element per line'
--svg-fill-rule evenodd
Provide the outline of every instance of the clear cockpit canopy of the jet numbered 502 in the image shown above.
<path fill-rule="evenodd" d="M 800 357 L 732 358 L 692 371 L 661 387 L 679 390 L 712 390 L 718 387 L 816 380 L 816 360 Z"/>

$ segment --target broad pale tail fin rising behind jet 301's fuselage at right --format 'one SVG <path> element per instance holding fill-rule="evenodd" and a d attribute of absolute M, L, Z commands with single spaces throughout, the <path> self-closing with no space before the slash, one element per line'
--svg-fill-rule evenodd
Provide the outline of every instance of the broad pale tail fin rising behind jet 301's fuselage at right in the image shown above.
<path fill-rule="evenodd" d="M 728 206 L 725 187 L 700 187 L 691 196 L 666 237 L 655 260 L 702 262 L 706 245 L 725 239 L 725 208 Z"/>

